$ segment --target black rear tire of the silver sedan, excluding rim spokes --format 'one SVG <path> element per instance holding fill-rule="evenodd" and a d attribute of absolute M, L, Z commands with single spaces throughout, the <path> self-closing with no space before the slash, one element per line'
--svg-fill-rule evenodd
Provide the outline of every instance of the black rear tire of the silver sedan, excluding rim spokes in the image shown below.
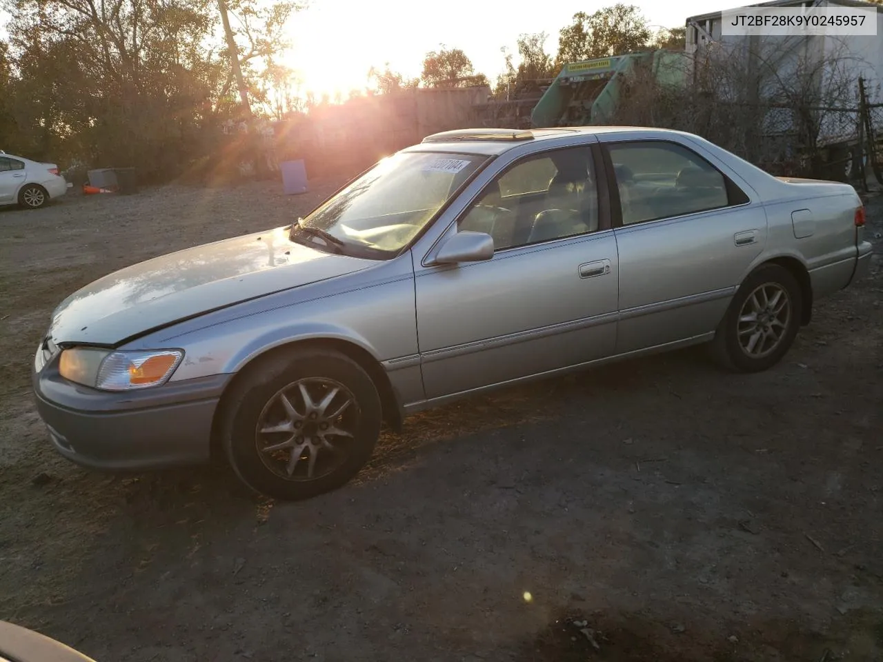
<path fill-rule="evenodd" d="M 764 290 L 760 290 L 761 288 L 764 288 Z M 760 331 L 761 340 L 758 342 L 768 342 L 768 351 L 766 353 L 758 351 L 757 344 L 755 344 L 754 349 L 758 351 L 758 354 L 751 356 L 748 348 L 743 346 L 740 338 L 744 338 L 745 342 L 750 344 L 751 337 L 758 335 L 758 325 L 760 327 L 764 326 L 765 318 L 756 322 L 747 321 L 740 323 L 739 320 L 743 316 L 751 315 L 751 309 L 754 308 L 754 305 L 753 303 L 748 303 L 748 301 L 752 295 L 757 293 L 758 298 L 755 301 L 759 301 L 764 292 L 768 293 L 776 289 L 781 290 L 782 293 L 787 295 L 787 305 L 789 308 L 787 321 L 781 322 L 779 320 L 779 323 L 774 322 L 774 325 L 771 325 L 774 328 L 780 328 L 781 324 L 783 324 L 781 335 L 775 344 L 773 344 L 771 338 L 766 339 L 763 331 Z M 742 283 L 742 286 L 736 292 L 736 296 L 733 297 L 733 301 L 730 303 L 726 314 L 723 316 L 723 320 L 721 320 L 721 324 L 718 326 L 714 340 L 711 343 L 712 357 L 722 367 L 736 372 L 761 372 L 771 368 L 779 363 L 781 357 L 785 356 L 794 343 L 803 316 L 803 304 L 800 285 L 788 269 L 774 264 L 758 267 Z M 743 312 L 746 312 L 746 315 L 743 315 Z M 765 314 L 768 315 L 769 313 Z M 756 315 L 756 317 L 760 316 Z M 751 326 L 752 324 L 754 327 Z M 740 330 L 743 333 L 740 334 Z M 762 347 L 764 347 L 763 344 L 761 344 Z"/>

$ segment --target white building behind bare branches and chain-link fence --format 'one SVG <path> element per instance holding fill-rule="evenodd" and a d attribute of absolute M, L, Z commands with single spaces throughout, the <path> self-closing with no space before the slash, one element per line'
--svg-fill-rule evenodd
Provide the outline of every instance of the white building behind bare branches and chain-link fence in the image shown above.
<path fill-rule="evenodd" d="M 742 6 L 876 12 L 874 36 L 722 34 L 721 11 L 686 21 L 686 53 L 700 89 L 744 104 L 745 117 L 757 123 L 759 143 L 781 143 L 789 146 L 789 154 L 816 154 L 830 164 L 829 177 L 851 177 L 865 145 L 857 112 L 859 79 L 864 80 L 868 102 L 883 103 L 883 5 L 860 0 L 775 0 Z M 879 111 L 872 116 L 879 135 L 883 135 L 881 118 Z"/>

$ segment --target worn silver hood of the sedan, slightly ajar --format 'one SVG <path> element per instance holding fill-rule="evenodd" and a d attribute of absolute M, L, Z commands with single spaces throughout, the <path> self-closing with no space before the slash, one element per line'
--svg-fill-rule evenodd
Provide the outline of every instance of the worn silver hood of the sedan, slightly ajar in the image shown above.
<path fill-rule="evenodd" d="M 126 267 L 64 299 L 56 344 L 115 345 L 151 329 L 376 264 L 291 242 L 288 227 L 224 239 Z"/>

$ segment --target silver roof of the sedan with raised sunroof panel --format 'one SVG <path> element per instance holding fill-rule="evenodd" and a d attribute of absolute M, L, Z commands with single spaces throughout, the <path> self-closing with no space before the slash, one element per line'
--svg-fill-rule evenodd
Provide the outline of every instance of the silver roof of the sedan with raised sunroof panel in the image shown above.
<path fill-rule="evenodd" d="M 549 129 L 457 129 L 426 136 L 419 145 L 406 147 L 404 152 L 446 152 L 494 156 L 509 149 L 542 140 L 560 139 L 567 135 L 588 135 L 623 132 L 648 132 L 655 135 L 681 134 L 670 129 L 649 126 L 567 126 Z"/>

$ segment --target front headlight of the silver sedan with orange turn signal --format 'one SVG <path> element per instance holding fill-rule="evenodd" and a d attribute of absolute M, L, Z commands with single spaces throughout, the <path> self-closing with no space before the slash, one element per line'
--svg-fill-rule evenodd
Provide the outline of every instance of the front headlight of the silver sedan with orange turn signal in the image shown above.
<path fill-rule="evenodd" d="M 65 380 L 105 391 L 128 391 L 164 384 L 184 358 L 181 350 L 63 350 L 58 372 Z"/>

